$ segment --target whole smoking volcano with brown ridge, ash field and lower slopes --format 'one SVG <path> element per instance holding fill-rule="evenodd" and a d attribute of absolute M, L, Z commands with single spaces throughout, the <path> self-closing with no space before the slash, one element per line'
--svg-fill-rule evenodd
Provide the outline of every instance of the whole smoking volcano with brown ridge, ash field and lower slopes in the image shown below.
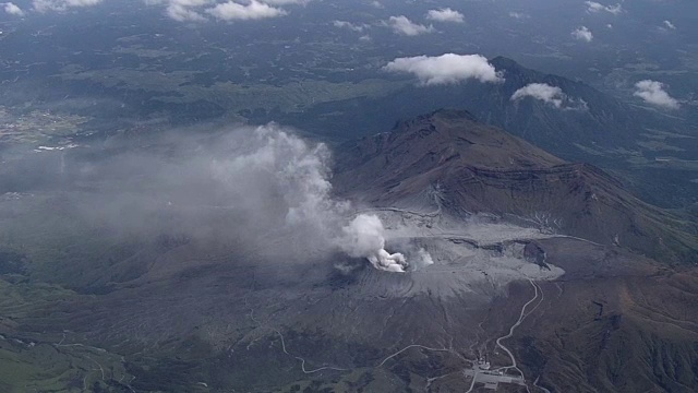
<path fill-rule="evenodd" d="M 245 236 L 179 234 L 178 225 L 107 243 L 82 263 L 96 252 L 92 241 L 112 236 L 86 227 L 89 241 L 61 246 L 51 263 L 0 254 L 16 284 L 3 290 L 25 305 L 0 320 L 0 345 L 19 359 L 77 361 L 85 374 L 61 378 L 107 391 L 698 385 L 697 237 L 678 217 L 597 167 L 460 110 L 399 121 L 335 151 L 334 193 L 381 219 L 385 250 L 405 254 L 405 272 L 338 250 L 291 259 Z M 81 178 L 81 190 L 101 181 Z M 74 218 L 67 192 L 5 196 L 0 219 L 22 219 L 16 236 L 26 243 L 46 222 Z M 192 212 L 224 229 L 254 224 L 220 206 L 184 217 Z M 305 245 L 282 228 L 265 236 Z M 59 271 L 72 273 L 47 273 Z"/>

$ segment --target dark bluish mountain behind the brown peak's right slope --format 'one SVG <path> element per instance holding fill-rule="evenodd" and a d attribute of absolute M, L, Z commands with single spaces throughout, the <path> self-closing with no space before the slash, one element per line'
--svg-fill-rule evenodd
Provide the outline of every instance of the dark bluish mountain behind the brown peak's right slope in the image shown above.
<path fill-rule="evenodd" d="M 614 170 L 650 203 L 681 206 L 695 201 L 698 184 L 690 180 L 698 176 L 691 162 L 698 138 L 682 111 L 635 106 L 512 59 L 497 57 L 491 63 L 504 83 L 468 83 L 461 92 L 445 88 L 450 103 L 559 157 Z M 557 108 L 532 97 L 512 99 L 531 83 L 558 87 L 568 102 Z"/>

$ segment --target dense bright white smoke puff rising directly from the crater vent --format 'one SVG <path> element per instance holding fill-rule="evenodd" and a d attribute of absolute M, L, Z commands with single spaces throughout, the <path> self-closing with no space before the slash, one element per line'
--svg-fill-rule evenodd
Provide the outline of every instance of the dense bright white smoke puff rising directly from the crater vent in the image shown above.
<path fill-rule="evenodd" d="M 350 257 L 365 258 L 378 270 L 405 272 L 405 255 L 385 250 L 385 228 L 375 215 L 360 214 L 342 228 L 344 237 L 339 247 Z"/>

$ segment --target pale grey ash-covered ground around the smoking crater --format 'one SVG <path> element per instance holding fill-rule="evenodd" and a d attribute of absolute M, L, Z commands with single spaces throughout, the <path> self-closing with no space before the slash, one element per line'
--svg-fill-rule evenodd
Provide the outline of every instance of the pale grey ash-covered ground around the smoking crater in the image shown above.
<path fill-rule="evenodd" d="M 563 269 L 545 263 L 544 255 L 526 252 L 527 245 L 556 235 L 543 234 L 492 217 L 455 219 L 441 212 L 381 209 L 375 214 L 385 226 L 386 248 L 405 254 L 404 277 L 372 275 L 364 290 L 382 296 L 458 296 L 462 293 L 497 294 L 506 284 L 519 279 L 552 281 Z M 351 274 L 354 265 L 337 264 Z M 370 273 L 363 273 L 370 275 Z M 400 273 L 396 273 L 400 274 Z M 384 283 L 385 282 L 385 287 Z M 399 284 L 398 284 L 399 283 Z"/>

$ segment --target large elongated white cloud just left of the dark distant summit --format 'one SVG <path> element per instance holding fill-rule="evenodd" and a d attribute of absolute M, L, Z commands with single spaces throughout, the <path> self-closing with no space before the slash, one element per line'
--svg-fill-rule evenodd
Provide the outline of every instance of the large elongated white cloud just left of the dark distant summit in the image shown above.
<path fill-rule="evenodd" d="M 503 78 L 480 55 L 445 53 L 437 57 L 397 58 L 383 70 L 416 75 L 423 85 L 453 84 L 467 80 L 501 82 Z"/>

